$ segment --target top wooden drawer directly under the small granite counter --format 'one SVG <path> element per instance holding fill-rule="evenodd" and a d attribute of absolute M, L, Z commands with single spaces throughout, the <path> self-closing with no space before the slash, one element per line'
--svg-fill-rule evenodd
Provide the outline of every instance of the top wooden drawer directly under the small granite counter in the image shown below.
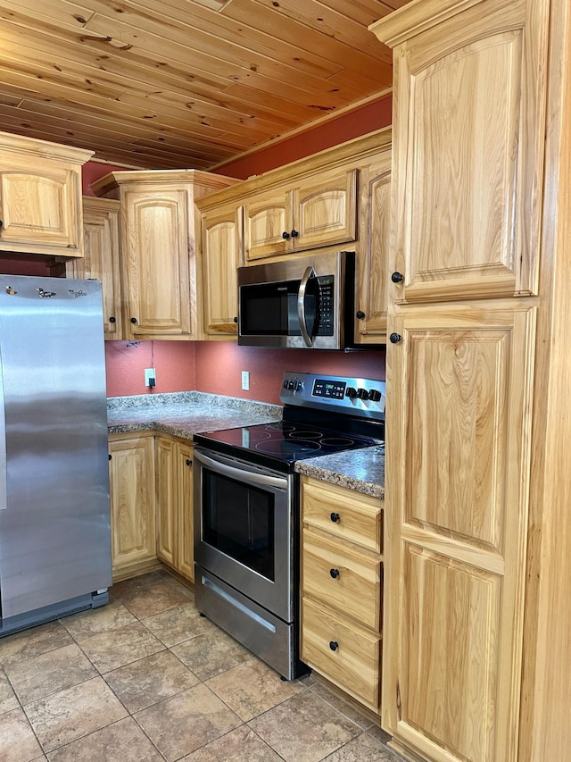
<path fill-rule="evenodd" d="M 382 552 L 382 501 L 325 482 L 302 481 L 304 526 Z"/>

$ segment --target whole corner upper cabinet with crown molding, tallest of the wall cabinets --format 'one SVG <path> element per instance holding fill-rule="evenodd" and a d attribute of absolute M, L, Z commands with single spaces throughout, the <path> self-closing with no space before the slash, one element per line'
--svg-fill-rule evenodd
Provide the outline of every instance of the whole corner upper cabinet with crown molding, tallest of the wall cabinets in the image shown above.
<path fill-rule="evenodd" d="M 194 200 L 232 180 L 195 170 L 112 172 L 93 184 L 120 199 L 124 333 L 200 339 Z"/>

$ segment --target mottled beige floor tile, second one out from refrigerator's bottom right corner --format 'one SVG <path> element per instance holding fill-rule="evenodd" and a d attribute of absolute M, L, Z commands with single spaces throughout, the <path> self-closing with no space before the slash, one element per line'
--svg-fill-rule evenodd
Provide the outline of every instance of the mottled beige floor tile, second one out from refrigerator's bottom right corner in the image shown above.
<path fill-rule="evenodd" d="M 78 642 L 87 657 L 102 673 L 164 649 L 161 641 L 140 622 L 127 624 L 110 632 L 101 632 Z"/>

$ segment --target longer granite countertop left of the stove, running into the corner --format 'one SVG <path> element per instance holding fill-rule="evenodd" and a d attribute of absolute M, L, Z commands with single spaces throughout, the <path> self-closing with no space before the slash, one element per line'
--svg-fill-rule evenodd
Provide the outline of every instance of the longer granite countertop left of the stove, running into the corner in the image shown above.
<path fill-rule="evenodd" d="M 282 408 L 278 405 L 202 391 L 142 394 L 107 400 L 110 434 L 153 429 L 192 440 L 198 431 L 269 423 L 279 421 L 281 417 Z"/>

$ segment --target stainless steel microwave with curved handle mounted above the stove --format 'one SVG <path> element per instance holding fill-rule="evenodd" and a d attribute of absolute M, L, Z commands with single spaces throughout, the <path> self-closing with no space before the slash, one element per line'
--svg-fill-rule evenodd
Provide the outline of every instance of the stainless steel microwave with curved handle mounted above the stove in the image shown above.
<path fill-rule="evenodd" d="M 238 344 L 354 347 L 355 253 L 338 251 L 238 268 Z"/>

